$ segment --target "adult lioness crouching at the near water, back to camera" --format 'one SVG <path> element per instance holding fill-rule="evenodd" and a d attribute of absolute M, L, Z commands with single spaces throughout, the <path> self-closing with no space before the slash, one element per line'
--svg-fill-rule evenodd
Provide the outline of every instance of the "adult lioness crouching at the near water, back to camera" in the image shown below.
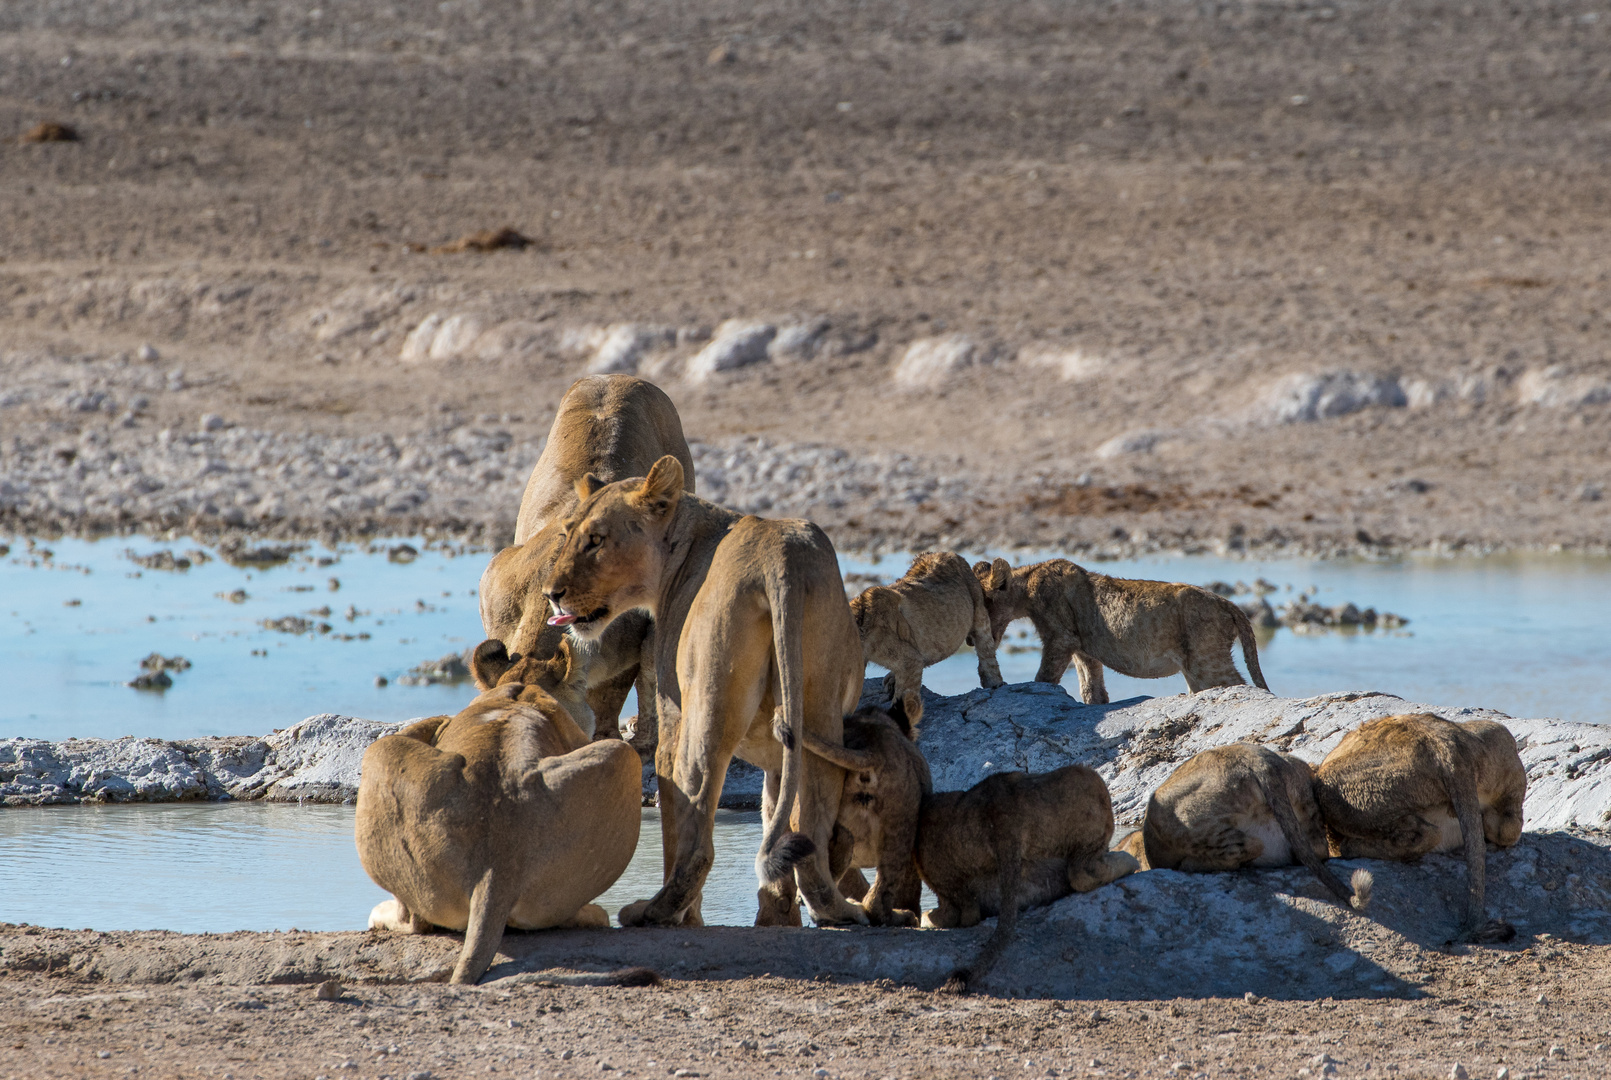
<path fill-rule="evenodd" d="M 590 743 L 545 685 L 580 696 L 567 643 L 548 663 L 512 667 L 458 716 L 409 724 L 364 751 L 358 858 L 395 898 L 369 927 L 464 930 L 456 983 L 487 972 L 506 925 L 609 925 L 588 901 L 638 846 L 638 754 Z"/>

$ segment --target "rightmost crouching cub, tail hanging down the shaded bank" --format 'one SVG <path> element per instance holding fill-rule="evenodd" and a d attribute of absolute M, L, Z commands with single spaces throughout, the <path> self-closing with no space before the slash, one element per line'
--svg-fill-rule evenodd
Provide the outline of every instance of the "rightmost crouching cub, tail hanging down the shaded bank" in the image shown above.
<path fill-rule="evenodd" d="M 1413 861 L 1463 848 L 1464 935 L 1474 941 L 1516 937 L 1503 919 L 1487 920 L 1484 904 L 1482 841 L 1516 843 L 1527 796 L 1527 771 L 1503 724 L 1455 724 L 1427 712 L 1384 716 L 1344 735 L 1315 775 L 1332 854 Z"/>

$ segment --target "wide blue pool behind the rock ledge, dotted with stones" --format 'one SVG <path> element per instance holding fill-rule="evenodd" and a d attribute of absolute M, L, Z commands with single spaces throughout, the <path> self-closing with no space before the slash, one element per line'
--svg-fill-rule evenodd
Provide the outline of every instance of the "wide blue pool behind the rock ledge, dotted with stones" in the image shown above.
<path fill-rule="evenodd" d="M 403 721 L 453 712 L 469 683 L 401 687 L 409 666 L 480 640 L 475 588 L 485 553 L 429 551 L 409 564 L 383 550 L 308 548 L 290 564 L 238 569 L 214 559 L 184 574 L 140 571 L 126 548 L 180 553 L 193 545 L 148 540 L 52 542 L 52 559 L 11 542 L 0 558 L 0 737 L 264 733 L 316 712 Z M 317 566 L 319 558 L 335 558 Z M 844 558 L 846 571 L 894 577 L 905 558 Z M 1381 690 L 1437 706 L 1487 706 L 1513 716 L 1605 722 L 1611 716 L 1611 559 L 1579 556 L 1405 558 L 1395 561 L 1229 561 L 1153 558 L 1092 564 L 1107 574 L 1203 584 L 1263 575 L 1321 603 L 1395 611 L 1403 630 L 1295 635 L 1278 630 L 1260 650 L 1269 687 L 1307 696 Z M 84 572 L 89 571 L 89 572 Z M 139 574 L 139 575 L 135 575 Z M 329 579 L 340 582 L 330 590 Z M 217 593 L 245 588 L 245 603 Z M 1279 606 L 1290 593 L 1271 596 Z M 77 600 L 77 606 L 66 606 Z M 353 619 L 343 617 L 348 606 Z M 329 606 L 329 616 L 306 613 Z M 259 621 L 301 614 L 332 624 L 325 635 L 287 635 Z M 1034 646 L 1008 630 L 1008 643 Z M 338 635 L 369 633 L 367 640 Z M 193 667 L 172 688 L 124 685 L 150 651 L 180 653 Z M 263 651 L 266 656 L 256 656 Z M 1010 682 L 1028 680 L 1037 651 L 1000 656 Z M 872 672 L 876 674 L 876 672 Z M 388 687 L 375 687 L 385 675 Z M 1076 685 L 1070 674 L 1070 687 Z M 928 669 L 925 683 L 959 693 L 978 685 L 968 653 Z M 1184 692 L 1184 680 L 1108 674 L 1113 700 Z M 635 706 L 628 703 L 627 711 Z"/>

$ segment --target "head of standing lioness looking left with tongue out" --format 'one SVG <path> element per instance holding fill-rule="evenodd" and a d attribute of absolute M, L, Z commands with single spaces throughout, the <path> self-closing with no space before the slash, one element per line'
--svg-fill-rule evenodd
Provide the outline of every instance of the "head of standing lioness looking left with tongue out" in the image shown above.
<path fill-rule="evenodd" d="M 683 493 L 683 466 L 665 456 L 643 480 L 577 485 L 582 505 L 565 519 L 545 595 L 549 625 L 596 640 L 615 616 L 652 613 L 665 564 L 664 538 Z"/>

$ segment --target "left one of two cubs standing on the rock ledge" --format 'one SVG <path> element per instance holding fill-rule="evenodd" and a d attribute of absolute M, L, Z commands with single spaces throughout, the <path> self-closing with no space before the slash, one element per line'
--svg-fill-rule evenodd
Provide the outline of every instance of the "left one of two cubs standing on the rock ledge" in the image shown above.
<path fill-rule="evenodd" d="M 851 601 L 862 654 L 889 669 L 884 693 L 901 701 L 912 725 L 923 719 L 923 669 L 971 642 L 979 685 L 1002 685 L 984 588 L 955 551 L 926 551 L 901 580 L 872 585 Z"/>

